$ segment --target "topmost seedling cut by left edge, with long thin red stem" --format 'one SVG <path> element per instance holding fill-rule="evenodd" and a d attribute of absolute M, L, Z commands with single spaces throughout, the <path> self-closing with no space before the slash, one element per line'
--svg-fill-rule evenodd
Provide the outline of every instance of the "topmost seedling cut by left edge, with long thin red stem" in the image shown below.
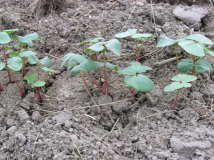
<path fill-rule="evenodd" d="M 6 66 L 7 66 L 7 58 L 6 58 L 6 53 L 5 53 L 5 44 L 7 44 L 11 41 L 9 34 L 15 32 L 15 31 L 18 31 L 18 29 L 0 31 L 0 44 L 3 45 L 4 60 L 5 60 Z M 7 72 L 8 72 L 8 77 L 9 77 L 10 83 L 12 83 L 9 70 Z"/>

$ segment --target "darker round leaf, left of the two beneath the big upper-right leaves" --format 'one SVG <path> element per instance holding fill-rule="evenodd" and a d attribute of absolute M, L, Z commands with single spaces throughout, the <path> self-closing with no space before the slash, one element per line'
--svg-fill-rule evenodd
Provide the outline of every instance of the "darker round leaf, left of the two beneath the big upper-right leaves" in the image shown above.
<path fill-rule="evenodd" d="M 178 63 L 178 69 L 181 72 L 188 72 L 190 69 L 192 69 L 194 67 L 194 63 L 192 59 L 182 59 L 179 63 Z"/>

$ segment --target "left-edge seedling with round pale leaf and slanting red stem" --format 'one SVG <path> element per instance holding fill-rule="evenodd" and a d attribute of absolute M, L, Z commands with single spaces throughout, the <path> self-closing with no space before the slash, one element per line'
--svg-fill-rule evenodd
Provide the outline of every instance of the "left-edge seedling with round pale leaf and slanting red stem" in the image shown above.
<path fill-rule="evenodd" d="M 19 70 L 21 70 L 21 68 L 22 68 L 22 59 L 19 58 L 19 57 L 12 57 L 12 58 L 10 58 L 10 59 L 7 61 L 7 63 L 0 62 L 0 70 L 2 70 L 2 69 L 4 69 L 4 68 L 6 68 L 6 69 L 9 71 L 9 73 L 12 75 L 12 77 L 13 77 L 13 79 L 14 79 L 16 85 L 17 85 L 18 88 L 19 88 L 19 91 L 20 91 L 20 93 L 21 93 L 21 97 L 24 98 L 24 94 L 23 94 L 23 92 L 22 92 L 22 90 L 21 90 L 19 84 L 17 83 L 16 78 L 14 77 L 14 75 L 13 75 L 13 73 L 12 73 L 12 71 L 11 71 L 11 70 L 14 70 L 14 71 L 19 71 Z"/>

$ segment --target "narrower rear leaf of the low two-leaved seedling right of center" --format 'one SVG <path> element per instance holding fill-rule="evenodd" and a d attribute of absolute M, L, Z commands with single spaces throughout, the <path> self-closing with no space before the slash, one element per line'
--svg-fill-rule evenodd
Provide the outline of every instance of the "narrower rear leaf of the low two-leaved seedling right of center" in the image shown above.
<path fill-rule="evenodd" d="M 146 70 L 150 70 L 152 68 L 147 66 L 142 66 L 139 62 L 132 62 L 131 66 L 122 69 L 119 71 L 120 74 L 127 74 L 127 75 L 136 75 L 137 73 L 143 73 L 146 72 Z"/>

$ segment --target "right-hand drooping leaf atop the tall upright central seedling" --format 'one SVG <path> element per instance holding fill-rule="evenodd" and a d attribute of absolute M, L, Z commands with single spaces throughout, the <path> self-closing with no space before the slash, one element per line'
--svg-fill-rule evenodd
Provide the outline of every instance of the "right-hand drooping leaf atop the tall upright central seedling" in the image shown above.
<path fill-rule="evenodd" d="M 105 45 L 109 50 L 111 50 L 114 54 L 120 56 L 121 55 L 121 44 L 117 39 L 112 39 L 107 42 Z"/>

